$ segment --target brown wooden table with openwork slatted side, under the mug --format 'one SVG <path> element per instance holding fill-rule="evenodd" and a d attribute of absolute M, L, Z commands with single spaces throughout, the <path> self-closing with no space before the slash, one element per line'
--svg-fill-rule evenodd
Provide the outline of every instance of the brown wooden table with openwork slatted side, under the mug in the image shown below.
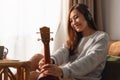
<path fill-rule="evenodd" d="M 11 67 L 16 69 L 16 75 Z M 0 60 L 0 80 L 30 80 L 30 61 Z"/>

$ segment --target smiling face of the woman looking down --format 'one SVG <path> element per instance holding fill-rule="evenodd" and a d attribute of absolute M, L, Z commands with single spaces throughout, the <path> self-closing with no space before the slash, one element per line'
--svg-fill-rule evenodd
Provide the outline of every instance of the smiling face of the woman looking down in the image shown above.
<path fill-rule="evenodd" d="M 83 32 L 88 27 L 85 17 L 76 9 L 70 13 L 70 24 L 77 32 Z"/>

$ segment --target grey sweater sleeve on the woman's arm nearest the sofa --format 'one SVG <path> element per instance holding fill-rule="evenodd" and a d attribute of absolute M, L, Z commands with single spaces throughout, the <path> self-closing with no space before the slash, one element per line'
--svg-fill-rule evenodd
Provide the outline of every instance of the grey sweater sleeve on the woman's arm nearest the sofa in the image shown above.
<path fill-rule="evenodd" d="M 85 56 L 78 57 L 74 62 L 62 67 L 63 77 L 80 77 L 98 68 L 102 70 L 104 67 L 100 65 L 106 61 L 107 45 L 107 35 L 96 38 L 95 42 L 91 44 L 85 53 Z"/>

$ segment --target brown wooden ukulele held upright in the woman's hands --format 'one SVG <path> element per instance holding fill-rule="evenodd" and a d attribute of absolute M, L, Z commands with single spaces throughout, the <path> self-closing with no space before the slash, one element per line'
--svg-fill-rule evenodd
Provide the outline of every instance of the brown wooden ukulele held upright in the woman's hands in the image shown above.
<path fill-rule="evenodd" d="M 41 40 L 44 44 L 44 61 L 45 61 L 45 64 L 51 64 L 50 48 L 49 48 L 50 28 L 48 28 L 48 27 L 40 28 L 40 34 L 41 34 Z M 38 80 L 59 80 L 59 78 L 55 77 L 55 76 L 51 76 L 51 75 L 48 75 L 48 76 L 40 75 Z"/>

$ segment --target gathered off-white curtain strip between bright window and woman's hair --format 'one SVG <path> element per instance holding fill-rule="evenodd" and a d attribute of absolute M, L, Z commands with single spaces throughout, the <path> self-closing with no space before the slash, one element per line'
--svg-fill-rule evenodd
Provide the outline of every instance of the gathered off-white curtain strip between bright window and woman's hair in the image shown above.
<path fill-rule="evenodd" d="M 53 44 L 53 52 L 58 48 L 62 47 L 67 39 L 66 34 L 66 20 L 69 9 L 69 0 L 61 1 L 61 19 L 55 34 L 54 44 Z"/>

